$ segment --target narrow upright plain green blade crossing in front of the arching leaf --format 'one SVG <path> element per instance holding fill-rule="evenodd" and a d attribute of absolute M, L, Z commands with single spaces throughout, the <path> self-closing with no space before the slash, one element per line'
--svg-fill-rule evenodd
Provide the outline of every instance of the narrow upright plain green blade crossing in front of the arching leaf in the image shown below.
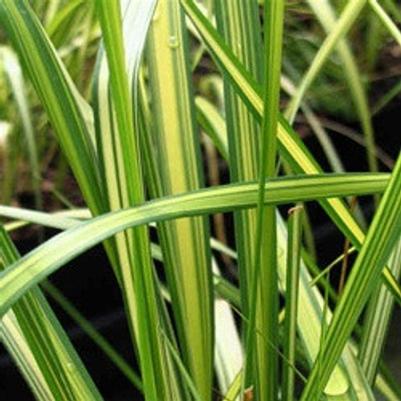
<path fill-rule="evenodd" d="M 259 192 L 257 204 L 257 224 L 255 235 L 255 251 L 250 291 L 250 322 L 247 327 L 246 352 L 253 356 L 253 346 L 259 341 L 252 340 L 252 333 L 263 330 L 266 333 L 268 347 L 261 355 L 256 347 L 255 355 L 264 358 L 262 369 L 257 369 L 256 395 L 260 400 L 276 400 L 278 392 L 278 276 L 277 276 L 277 239 L 276 210 L 265 207 L 265 180 L 275 175 L 276 170 L 276 135 L 280 98 L 281 51 L 284 23 L 284 3 L 265 3 L 265 77 L 264 77 L 264 111 L 262 119 L 262 135 L 259 154 Z M 257 283 L 263 283 L 263 287 Z M 262 305 L 262 315 L 257 310 L 257 302 Z M 255 330 L 256 329 L 256 330 Z M 248 354 L 249 353 L 249 354 Z M 252 358 L 247 362 L 253 362 Z M 248 364 L 245 370 L 249 369 Z"/>

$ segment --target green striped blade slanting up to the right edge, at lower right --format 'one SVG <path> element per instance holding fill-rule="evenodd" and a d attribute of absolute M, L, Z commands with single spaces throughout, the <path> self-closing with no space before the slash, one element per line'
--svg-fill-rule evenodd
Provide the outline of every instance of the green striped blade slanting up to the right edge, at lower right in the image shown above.
<path fill-rule="evenodd" d="M 335 309 L 321 349 L 324 365 L 314 366 L 301 400 L 320 394 L 349 338 L 370 293 L 375 288 L 383 266 L 400 237 L 401 227 L 401 157 L 397 160 L 367 238 L 353 266 L 344 292 Z"/>

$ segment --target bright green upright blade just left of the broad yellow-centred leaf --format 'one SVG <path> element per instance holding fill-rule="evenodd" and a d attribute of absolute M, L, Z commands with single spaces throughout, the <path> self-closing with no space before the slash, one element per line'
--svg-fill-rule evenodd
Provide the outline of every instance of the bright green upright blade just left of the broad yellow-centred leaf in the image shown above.
<path fill-rule="evenodd" d="M 116 140 L 120 141 L 121 146 L 121 187 L 125 187 L 125 202 L 138 205 L 144 201 L 144 188 L 139 139 L 134 129 L 120 3 L 116 0 L 98 0 L 96 8 L 110 70 L 111 99 L 119 133 Z M 121 278 L 129 321 L 138 346 L 144 394 L 149 401 L 167 400 L 170 398 L 167 381 L 169 370 L 165 369 L 164 347 L 158 333 L 162 320 L 147 229 L 135 227 L 126 235 L 130 249 L 128 254 L 124 254 L 128 259 L 121 264 Z M 131 252 L 135 252 L 135 255 Z"/>

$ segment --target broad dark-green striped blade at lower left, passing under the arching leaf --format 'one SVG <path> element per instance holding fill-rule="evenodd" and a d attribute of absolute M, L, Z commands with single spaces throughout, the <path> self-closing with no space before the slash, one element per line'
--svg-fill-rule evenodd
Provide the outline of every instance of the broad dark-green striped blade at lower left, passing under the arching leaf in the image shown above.
<path fill-rule="evenodd" d="M 4 267 L 19 260 L 19 255 L 8 234 L 0 230 L 1 264 Z M 19 327 L 20 339 L 15 340 L 14 349 L 19 347 L 21 363 L 30 363 L 32 372 L 25 372 L 28 383 L 39 371 L 43 375 L 50 399 L 54 400 L 101 400 L 81 360 L 69 342 L 67 335 L 38 288 L 33 288 L 13 307 L 15 322 L 3 321 L 3 331 L 13 323 Z M 7 315 L 6 315 L 7 316 Z M 17 337 L 18 338 L 18 337 Z M 12 342 L 9 338 L 8 343 Z M 30 355 L 32 352 L 32 355 Z M 46 392 L 46 393 L 48 393 Z"/>

